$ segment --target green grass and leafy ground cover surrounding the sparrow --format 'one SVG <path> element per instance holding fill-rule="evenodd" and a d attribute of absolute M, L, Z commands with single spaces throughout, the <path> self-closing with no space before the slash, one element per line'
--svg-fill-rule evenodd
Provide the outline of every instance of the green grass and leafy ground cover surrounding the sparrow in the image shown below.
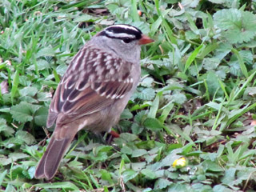
<path fill-rule="evenodd" d="M 242 0 L 2 0 L 0 190 L 255 191 L 255 14 Z M 58 174 L 37 180 L 54 90 L 82 45 L 114 23 L 155 40 L 142 47 L 121 137 L 80 131 Z"/>

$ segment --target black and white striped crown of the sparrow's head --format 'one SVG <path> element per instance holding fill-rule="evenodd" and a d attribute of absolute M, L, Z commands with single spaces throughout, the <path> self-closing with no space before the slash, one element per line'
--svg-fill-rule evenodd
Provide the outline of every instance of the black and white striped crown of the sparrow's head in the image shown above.
<path fill-rule="evenodd" d="M 119 24 L 107 27 L 98 35 L 106 35 L 108 38 L 118 38 L 132 41 L 142 38 L 142 31 L 135 26 Z"/>

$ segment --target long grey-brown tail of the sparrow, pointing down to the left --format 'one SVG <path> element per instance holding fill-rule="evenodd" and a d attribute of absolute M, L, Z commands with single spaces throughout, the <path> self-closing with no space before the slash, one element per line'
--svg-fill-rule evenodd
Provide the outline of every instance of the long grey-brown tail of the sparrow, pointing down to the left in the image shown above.
<path fill-rule="evenodd" d="M 64 130 L 65 128 L 61 128 L 59 130 Z M 58 130 L 55 128 L 55 130 Z M 54 130 L 54 134 L 50 138 L 50 143 L 47 146 L 46 152 L 43 154 L 37 169 L 35 170 L 34 177 L 35 178 L 46 178 L 51 179 L 54 178 L 58 170 L 58 166 L 64 156 L 66 154 L 66 150 L 70 148 L 70 143 L 72 142 L 76 131 L 69 131 L 70 133 L 64 134 L 63 138 L 59 138 L 57 134 L 58 131 Z M 65 129 L 69 130 L 69 129 Z M 57 136 L 56 136 L 57 135 Z"/>

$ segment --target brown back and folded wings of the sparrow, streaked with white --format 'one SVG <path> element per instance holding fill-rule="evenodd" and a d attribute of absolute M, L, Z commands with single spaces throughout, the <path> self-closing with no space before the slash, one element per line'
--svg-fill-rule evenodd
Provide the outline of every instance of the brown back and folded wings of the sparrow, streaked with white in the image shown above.
<path fill-rule="evenodd" d="M 98 59 L 95 59 L 97 55 Z M 100 61 L 100 62 L 99 62 Z M 79 51 L 63 76 L 50 105 L 51 114 L 64 113 L 62 123 L 98 112 L 122 98 L 133 87 L 132 63 L 88 46 Z M 47 123 L 48 124 L 48 123 Z"/>

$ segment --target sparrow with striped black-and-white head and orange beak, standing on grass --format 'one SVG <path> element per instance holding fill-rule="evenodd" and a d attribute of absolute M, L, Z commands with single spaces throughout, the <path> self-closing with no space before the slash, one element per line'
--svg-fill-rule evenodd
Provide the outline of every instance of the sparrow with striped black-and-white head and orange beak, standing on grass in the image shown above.
<path fill-rule="evenodd" d="M 55 128 L 34 178 L 54 178 L 79 130 L 99 134 L 118 123 L 141 76 L 141 46 L 150 42 L 137 27 L 115 24 L 82 46 L 50 103 L 46 126 Z"/>

